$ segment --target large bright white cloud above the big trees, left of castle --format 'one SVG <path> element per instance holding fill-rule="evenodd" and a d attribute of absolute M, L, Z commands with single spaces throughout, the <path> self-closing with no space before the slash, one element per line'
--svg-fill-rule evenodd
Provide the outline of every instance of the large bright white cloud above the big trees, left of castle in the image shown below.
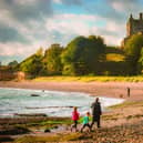
<path fill-rule="evenodd" d="M 103 22 L 101 27 L 99 22 Z M 78 35 L 102 35 L 108 44 L 120 44 L 125 31 L 124 24 L 114 21 L 105 21 L 94 14 L 57 14 L 47 21 L 48 33 L 51 33 L 53 40 L 64 43 L 70 42 Z M 119 40 L 118 40 L 119 39 Z"/>

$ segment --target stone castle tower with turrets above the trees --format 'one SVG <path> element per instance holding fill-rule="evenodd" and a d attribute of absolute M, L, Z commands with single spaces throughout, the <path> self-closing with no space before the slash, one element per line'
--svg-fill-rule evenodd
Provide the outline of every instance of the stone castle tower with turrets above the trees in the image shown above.
<path fill-rule="evenodd" d="M 139 14 L 139 19 L 134 19 L 132 14 L 130 14 L 130 18 L 126 23 L 126 37 L 121 43 L 121 47 L 125 44 L 125 41 L 135 33 L 143 33 L 143 13 Z"/>

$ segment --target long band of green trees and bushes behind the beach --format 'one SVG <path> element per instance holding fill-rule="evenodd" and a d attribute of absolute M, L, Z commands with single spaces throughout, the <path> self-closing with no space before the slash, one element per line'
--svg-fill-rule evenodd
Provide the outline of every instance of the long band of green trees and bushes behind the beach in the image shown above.
<path fill-rule="evenodd" d="M 34 54 L 17 64 L 17 70 L 32 76 L 40 75 L 136 75 L 143 71 L 143 34 L 129 38 L 122 49 L 124 61 L 109 62 L 105 58 L 109 45 L 102 37 L 76 37 L 64 48 L 51 44 L 45 51 L 40 48 Z M 115 48 L 114 48 L 115 49 Z M 17 64 L 17 67 L 16 67 Z"/>

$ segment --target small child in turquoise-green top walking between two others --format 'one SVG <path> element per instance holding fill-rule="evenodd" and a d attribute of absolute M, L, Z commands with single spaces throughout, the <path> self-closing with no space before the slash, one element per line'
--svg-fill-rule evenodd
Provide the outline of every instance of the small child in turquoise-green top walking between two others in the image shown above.
<path fill-rule="evenodd" d="M 86 112 L 86 115 L 83 118 L 83 125 L 81 127 L 81 132 L 83 131 L 83 129 L 85 126 L 88 126 L 89 130 L 91 131 L 91 126 L 90 126 L 89 122 L 90 122 L 90 112 Z"/>

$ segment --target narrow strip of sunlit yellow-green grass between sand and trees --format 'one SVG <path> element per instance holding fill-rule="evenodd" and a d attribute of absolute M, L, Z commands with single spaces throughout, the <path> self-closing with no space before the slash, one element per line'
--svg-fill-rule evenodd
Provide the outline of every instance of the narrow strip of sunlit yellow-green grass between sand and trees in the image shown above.
<path fill-rule="evenodd" d="M 143 82 L 143 76 L 39 76 L 37 82 Z"/>

